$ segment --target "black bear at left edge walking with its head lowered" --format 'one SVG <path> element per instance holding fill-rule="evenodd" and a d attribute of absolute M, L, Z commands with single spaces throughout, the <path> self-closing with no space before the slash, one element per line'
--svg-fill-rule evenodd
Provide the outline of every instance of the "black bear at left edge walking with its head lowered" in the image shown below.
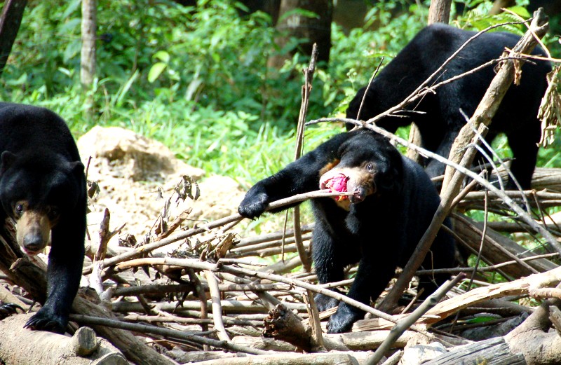
<path fill-rule="evenodd" d="M 51 246 L 46 303 L 25 326 L 64 333 L 86 233 L 86 177 L 76 143 L 53 111 L 0 103 L 0 153 L 1 229 L 11 217 L 29 255 Z"/>

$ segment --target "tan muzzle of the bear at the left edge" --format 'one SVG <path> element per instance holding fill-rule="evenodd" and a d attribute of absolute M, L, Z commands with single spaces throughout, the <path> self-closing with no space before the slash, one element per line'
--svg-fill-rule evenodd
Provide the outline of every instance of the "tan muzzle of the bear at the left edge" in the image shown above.
<path fill-rule="evenodd" d="M 28 255 L 36 255 L 50 241 L 50 221 L 45 212 L 26 210 L 16 223 L 18 244 Z"/>

